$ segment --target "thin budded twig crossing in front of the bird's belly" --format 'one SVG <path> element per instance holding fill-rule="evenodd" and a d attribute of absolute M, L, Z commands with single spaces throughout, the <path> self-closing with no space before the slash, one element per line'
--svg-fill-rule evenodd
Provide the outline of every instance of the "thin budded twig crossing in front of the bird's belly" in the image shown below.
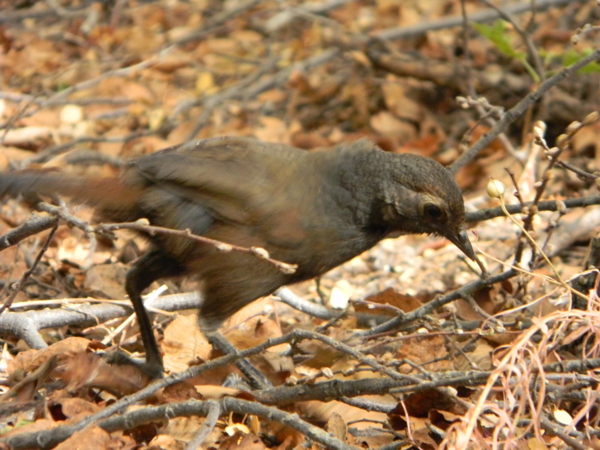
<path fill-rule="evenodd" d="M 147 222 L 147 221 L 146 221 Z M 279 269 L 284 274 L 293 274 L 296 271 L 295 264 L 288 264 L 282 261 L 278 261 L 276 259 L 272 259 L 268 256 L 268 253 L 263 248 L 257 247 L 240 247 L 239 245 L 227 244 L 226 242 L 215 241 L 215 239 L 206 238 L 205 236 L 194 235 L 189 229 L 185 230 L 174 230 L 170 228 L 157 227 L 154 225 L 148 225 L 144 223 L 144 221 L 137 221 L 131 223 L 110 223 L 110 224 L 100 224 L 96 227 L 96 230 L 100 230 L 103 232 L 114 231 L 114 230 L 136 230 L 143 233 L 148 233 L 149 235 L 155 235 L 157 233 L 164 235 L 172 235 L 172 236 L 180 236 L 182 238 L 188 238 L 192 241 L 201 242 L 202 244 L 212 245 L 219 251 L 239 251 L 240 253 L 250 254 L 252 256 L 256 256 L 259 259 L 262 259 L 269 264 L 275 266 L 275 268 Z"/>

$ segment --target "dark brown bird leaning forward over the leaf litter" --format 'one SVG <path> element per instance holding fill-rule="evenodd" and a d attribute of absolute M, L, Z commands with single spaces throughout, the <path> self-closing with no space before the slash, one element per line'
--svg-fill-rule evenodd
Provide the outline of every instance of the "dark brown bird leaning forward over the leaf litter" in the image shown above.
<path fill-rule="evenodd" d="M 100 221 L 135 221 L 244 247 L 298 265 L 284 274 L 239 252 L 169 235 L 127 274 L 146 367 L 163 371 L 142 291 L 158 278 L 190 276 L 203 295 L 200 325 L 227 317 L 284 284 L 307 280 L 381 239 L 407 233 L 445 236 L 475 259 L 464 204 L 449 172 L 429 158 L 391 154 L 367 140 L 307 152 L 242 137 L 187 142 L 131 161 L 119 178 L 87 179 L 23 170 L 0 174 L 0 194 L 61 194 L 96 209 Z"/>

